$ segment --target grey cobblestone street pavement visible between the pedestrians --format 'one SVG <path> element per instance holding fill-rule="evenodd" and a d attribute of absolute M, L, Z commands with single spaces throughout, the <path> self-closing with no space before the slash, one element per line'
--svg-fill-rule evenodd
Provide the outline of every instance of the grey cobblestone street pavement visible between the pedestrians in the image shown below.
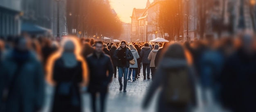
<path fill-rule="evenodd" d="M 124 81 L 122 81 L 122 83 L 123 82 Z M 150 85 L 150 83 L 151 79 L 143 80 L 143 75 L 141 74 L 141 78 L 137 79 L 135 82 L 127 83 L 127 92 L 124 93 L 119 91 L 118 78 L 113 78 L 107 97 L 106 112 L 154 112 L 156 95 L 154 96 L 153 101 L 147 110 L 141 109 L 142 100 L 144 99 L 144 95 L 146 94 L 147 87 Z M 53 87 L 48 85 L 47 99 L 43 112 L 50 111 L 52 91 Z M 84 112 L 91 112 L 90 95 L 86 93 L 83 94 L 83 110 Z"/>

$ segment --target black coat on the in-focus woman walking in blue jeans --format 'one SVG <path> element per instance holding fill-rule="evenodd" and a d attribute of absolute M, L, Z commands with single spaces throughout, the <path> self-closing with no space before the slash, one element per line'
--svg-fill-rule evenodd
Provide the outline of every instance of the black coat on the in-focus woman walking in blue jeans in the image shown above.
<path fill-rule="evenodd" d="M 133 59 L 133 55 L 132 52 L 130 51 L 130 49 L 128 47 L 126 47 L 126 65 L 123 65 L 121 62 L 121 58 L 118 56 L 118 52 L 121 50 L 121 47 L 118 47 L 118 49 L 116 49 L 113 58 L 117 60 L 117 67 L 130 67 L 130 60 Z"/>

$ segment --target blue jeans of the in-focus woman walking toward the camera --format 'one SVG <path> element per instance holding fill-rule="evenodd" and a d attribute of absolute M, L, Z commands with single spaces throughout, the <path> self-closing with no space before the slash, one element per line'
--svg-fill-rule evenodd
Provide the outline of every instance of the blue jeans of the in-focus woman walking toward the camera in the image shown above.
<path fill-rule="evenodd" d="M 118 81 L 119 81 L 119 85 L 122 86 L 122 76 L 124 74 L 124 90 L 126 90 L 128 67 L 117 67 L 117 68 L 118 68 Z"/>

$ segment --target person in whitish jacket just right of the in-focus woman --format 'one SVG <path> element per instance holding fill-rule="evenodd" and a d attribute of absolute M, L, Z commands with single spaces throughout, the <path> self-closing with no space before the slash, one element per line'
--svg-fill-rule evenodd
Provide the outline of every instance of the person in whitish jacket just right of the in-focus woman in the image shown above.
<path fill-rule="evenodd" d="M 136 78 L 135 78 L 136 68 L 138 68 L 137 59 L 139 58 L 139 53 L 137 52 L 136 48 L 132 44 L 129 45 L 129 48 L 132 52 L 133 58 L 135 60 L 135 64 L 134 65 L 130 64 L 129 73 L 128 73 L 128 81 L 131 81 L 131 78 L 130 78 L 131 74 L 132 74 L 132 81 L 135 81 L 136 80 Z"/>

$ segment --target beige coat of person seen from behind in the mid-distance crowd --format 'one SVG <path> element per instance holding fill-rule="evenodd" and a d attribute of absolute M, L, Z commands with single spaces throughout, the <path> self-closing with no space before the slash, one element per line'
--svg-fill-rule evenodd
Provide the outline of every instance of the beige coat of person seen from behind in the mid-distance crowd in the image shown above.
<path fill-rule="evenodd" d="M 150 64 L 148 60 L 148 55 L 151 52 L 151 47 L 142 47 L 140 52 L 140 58 L 143 64 Z"/>

